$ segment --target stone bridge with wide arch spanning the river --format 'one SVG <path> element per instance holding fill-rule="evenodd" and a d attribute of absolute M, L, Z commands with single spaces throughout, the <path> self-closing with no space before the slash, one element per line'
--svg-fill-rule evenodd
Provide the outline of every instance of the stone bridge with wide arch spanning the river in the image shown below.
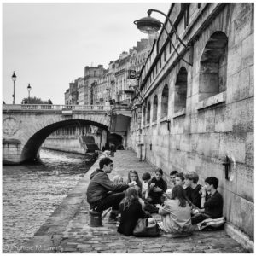
<path fill-rule="evenodd" d="M 38 158 L 44 140 L 67 125 L 95 125 L 109 131 L 111 117 L 128 108 L 101 105 L 3 105 L 3 164 Z"/>

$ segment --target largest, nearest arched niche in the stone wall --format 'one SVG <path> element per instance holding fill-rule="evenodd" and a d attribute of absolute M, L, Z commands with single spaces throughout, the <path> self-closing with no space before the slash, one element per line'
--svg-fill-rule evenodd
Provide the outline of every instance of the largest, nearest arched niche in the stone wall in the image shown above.
<path fill-rule="evenodd" d="M 228 37 L 214 32 L 201 55 L 199 72 L 199 100 L 202 101 L 226 90 Z"/>

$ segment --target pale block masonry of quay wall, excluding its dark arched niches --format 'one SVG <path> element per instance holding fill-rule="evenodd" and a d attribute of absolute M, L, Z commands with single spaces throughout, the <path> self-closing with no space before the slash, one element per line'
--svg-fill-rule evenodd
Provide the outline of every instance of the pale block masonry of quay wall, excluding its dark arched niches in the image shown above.
<path fill-rule="evenodd" d="M 201 184 L 206 177 L 218 177 L 218 190 L 224 196 L 224 216 L 253 239 L 253 3 L 228 3 L 214 13 L 216 6 L 204 5 L 201 20 L 194 25 L 201 33 L 194 42 L 193 67 L 178 61 L 168 69 L 171 60 L 159 72 L 160 83 L 148 86 L 146 100 L 151 106 L 154 96 L 158 96 L 158 118 L 154 124 L 151 120 L 149 125 L 142 125 L 143 157 L 167 173 L 174 169 L 198 172 Z M 192 14 L 195 17 L 195 11 Z M 211 22 L 207 23 L 204 19 L 208 18 Z M 181 34 L 186 33 L 182 27 Z M 228 38 L 226 89 L 214 96 L 201 97 L 201 57 L 214 32 L 224 32 Z M 183 57 L 188 60 L 188 54 Z M 181 67 L 188 72 L 187 102 L 183 112 L 175 113 L 175 84 Z M 168 114 L 166 119 L 160 119 L 161 93 L 166 84 Z M 153 111 L 151 108 L 151 118 Z M 131 132 L 136 137 L 139 131 Z M 133 148 L 137 148 L 132 142 Z M 224 176 L 226 155 L 233 160 L 229 180 Z"/>

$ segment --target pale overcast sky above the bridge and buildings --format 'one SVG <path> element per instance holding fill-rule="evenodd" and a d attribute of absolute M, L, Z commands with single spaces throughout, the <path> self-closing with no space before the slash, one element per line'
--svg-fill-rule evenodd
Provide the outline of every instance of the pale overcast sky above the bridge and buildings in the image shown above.
<path fill-rule="evenodd" d="M 171 3 L 3 3 L 3 100 L 28 95 L 64 104 L 68 84 L 84 67 L 119 58 L 147 34 L 133 24 L 150 8 L 167 13 Z M 164 17 L 152 14 L 163 21 Z"/>

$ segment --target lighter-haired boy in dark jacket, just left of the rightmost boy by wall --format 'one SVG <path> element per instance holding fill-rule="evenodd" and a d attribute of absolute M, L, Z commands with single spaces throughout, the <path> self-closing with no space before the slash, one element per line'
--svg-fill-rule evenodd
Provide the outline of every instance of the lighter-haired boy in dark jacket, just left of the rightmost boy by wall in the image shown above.
<path fill-rule="evenodd" d="M 198 184 L 199 176 L 196 172 L 185 174 L 185 191 L 187 198 L 196 208 L 201 207 L 201 185 Z"/>

